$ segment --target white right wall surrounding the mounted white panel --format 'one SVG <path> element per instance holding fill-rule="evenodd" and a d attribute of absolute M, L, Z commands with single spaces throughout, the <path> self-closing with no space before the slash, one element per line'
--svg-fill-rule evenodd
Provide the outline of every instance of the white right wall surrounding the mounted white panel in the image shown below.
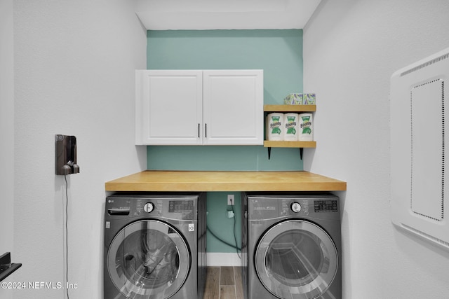
<path fill-rule="evenodd" d="M 445 0 L 323 0 L 304 28 L 304 92 L 316 92 L 304 169 L 347 181 L 343 298 L 448 298 L 449 253 L 389 214 L 389 79 L 449 47 Z"/>

